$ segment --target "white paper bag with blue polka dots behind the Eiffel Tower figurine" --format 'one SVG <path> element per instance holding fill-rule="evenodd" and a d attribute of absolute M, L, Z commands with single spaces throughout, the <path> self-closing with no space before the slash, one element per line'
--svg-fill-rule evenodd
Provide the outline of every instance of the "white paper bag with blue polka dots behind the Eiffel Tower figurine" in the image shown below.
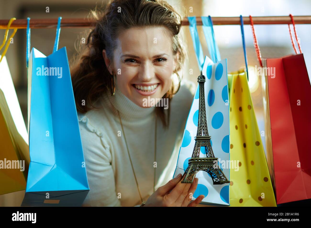
<path fill-rule="evenodd" d="M 218 165 L 224 175 L 230 180 L 229 167 L 225 167 L 230 160 L 229 145 L 229 99 L 228 99 L 228 78 L 227 59 L 213 63 L 205 56 L 202 74 L 206 78 L 204 83 L 205 107 L 208 133 L 211 136 L 211 145 Z M 188 115 L 186 127 L 183 133 L 183 140 L 179 149 L 177 166 L 174 177 L 179 173 L 183 174 L 188 167 L 188 159 L 191 158 L 197 132 L 199 113 L 199 86 L 194 96 L 193 103 Z M 201 147 L 200 157 L 206 157 L 205 148 Z M 224 166 L 223 166 L 224 165 Z M 213 185 L 212 178 L 205 171 L 196 174 L 198 180 L 197 189 L 193 194 L 194 200 L 199 195 L 205 195 L 201 203 L 230 205 L 229 204 L 229 183 Z"/>

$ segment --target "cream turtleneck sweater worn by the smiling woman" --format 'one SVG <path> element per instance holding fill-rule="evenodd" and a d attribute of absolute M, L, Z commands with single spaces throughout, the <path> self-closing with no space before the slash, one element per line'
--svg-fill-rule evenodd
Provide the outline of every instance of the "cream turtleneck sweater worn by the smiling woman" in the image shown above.
<path fill-rule="evenodd" d="M 95 106 L 98 109 L 90 110 L 86 114 L 78 113 L 90 186 L 82 206 L 139 206 L 142 203 L 117 110 L 121 116 L 143 200 L 146 201 L 153 193 L 154 169 L 155 189 L 173 178 L 195 89 L 196 86 L 190 81 L 181 84 L 179 91 L 170 101 L 170 122 L 167 129 L 163 127 L 160 118 L 157 119 L 156 168 L 156 107 L 141 108 L 116 88 L 114 96 L 104 94 L 96 102 Z"/>

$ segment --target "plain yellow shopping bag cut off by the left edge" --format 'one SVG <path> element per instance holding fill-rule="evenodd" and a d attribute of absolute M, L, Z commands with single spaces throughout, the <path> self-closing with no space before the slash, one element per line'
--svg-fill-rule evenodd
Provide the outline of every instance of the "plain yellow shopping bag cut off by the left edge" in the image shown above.
<path fill-rule="evenodd" d="M 5 57 L 0 62 L 0 72 L 0 195 L 2 195 L 25 190 L 30 158 L 28 134 Z"/>

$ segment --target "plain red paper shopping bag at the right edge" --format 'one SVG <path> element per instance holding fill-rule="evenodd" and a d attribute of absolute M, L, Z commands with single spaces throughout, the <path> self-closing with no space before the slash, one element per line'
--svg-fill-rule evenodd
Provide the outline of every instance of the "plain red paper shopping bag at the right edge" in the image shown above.
<path fill-rule="evenodd" d="M 311 86 L 303 54 L 263 60 L 266 76 L 276 203 L 311 198 Z M 271 151 L 270 151 L 271 152 Z"/>

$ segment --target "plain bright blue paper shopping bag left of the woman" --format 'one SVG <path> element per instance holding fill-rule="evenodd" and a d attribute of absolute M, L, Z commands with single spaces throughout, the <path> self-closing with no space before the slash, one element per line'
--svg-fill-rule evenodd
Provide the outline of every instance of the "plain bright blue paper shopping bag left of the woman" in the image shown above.
<path fill-rule="evenodd" d="M 59 20 L 60 24 L 60 20 Z M 32 48 L 28 67 L 30 165 L 22 206 L 81 206 L 89 192 L 66 47 Z"/>

